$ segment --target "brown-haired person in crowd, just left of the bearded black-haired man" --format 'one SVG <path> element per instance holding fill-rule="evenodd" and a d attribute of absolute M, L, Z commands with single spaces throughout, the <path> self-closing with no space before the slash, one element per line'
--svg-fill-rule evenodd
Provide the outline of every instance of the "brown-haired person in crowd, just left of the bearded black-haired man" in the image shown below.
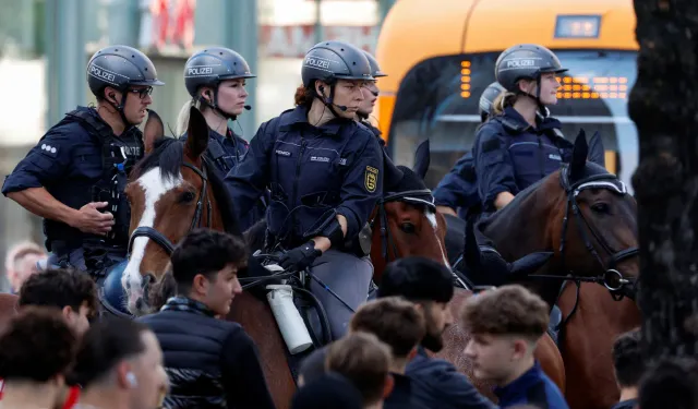
<path fill-rule="evenodd" d="M 395 387 L 383 404 L 385 409 L 429 409 L 412 399 L 411 381 L 405 375 L 426 334 L 424 317 L 414 304 L 398 297 L 371 301 L 357 310 L 349 330 L 373 334 L 390 348 L 389 370 Z"/>

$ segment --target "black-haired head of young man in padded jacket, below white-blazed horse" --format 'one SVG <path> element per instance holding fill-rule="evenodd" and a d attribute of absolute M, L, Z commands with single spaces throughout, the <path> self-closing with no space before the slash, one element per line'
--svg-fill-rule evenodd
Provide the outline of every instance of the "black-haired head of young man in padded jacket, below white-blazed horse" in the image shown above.
<path fill-rule="evenodd" d="M 227 315 L 232 299 L 242 292 L 238 272 L 246 267 L 248 251 L 234 236 L 193 230 L 177 245 L 171 262 L 178 294 L 203 303 L 216 315 Z"/>

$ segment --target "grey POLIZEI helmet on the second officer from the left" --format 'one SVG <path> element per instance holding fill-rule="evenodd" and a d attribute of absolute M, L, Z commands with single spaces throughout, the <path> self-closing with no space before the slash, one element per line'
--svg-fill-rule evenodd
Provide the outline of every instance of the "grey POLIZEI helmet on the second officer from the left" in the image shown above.
<path fill-rule="evenodd" d="M 184 85 L 196 96 L 202 86 L 215 88 L 221 81 L 254 79 L 248 61 L 229 48 L 213 47 L 193 55 L 184 64 Z"/>

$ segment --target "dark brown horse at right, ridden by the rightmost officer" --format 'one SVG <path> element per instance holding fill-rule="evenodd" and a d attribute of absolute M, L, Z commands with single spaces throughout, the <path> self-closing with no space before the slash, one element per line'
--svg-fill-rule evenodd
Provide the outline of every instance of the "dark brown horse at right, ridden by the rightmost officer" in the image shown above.
<path fill-rule="evenodd" d="M 559 349 L 567 376 L 563 390 L 573 409 L 602 409 L 617 402 L 612 344 L 640 324 L 634 303 L 639 272 L 637 204 L 614 175 L 587 161 L 588 152 L 582 134 L 575 141 L 569 165 L 477 226 L 468 226 L 471 237 L 465 240 L 468 269 L 484 254 L 477 245 L 481 238 L 508 261 L 537 251 L 554 253 L 537 274 L 504 280 L 525 285 L 551 306 L 557 302 L 566 316 L 559 325 Z M 575 285 L 561 291 L 563 281 Z"/>

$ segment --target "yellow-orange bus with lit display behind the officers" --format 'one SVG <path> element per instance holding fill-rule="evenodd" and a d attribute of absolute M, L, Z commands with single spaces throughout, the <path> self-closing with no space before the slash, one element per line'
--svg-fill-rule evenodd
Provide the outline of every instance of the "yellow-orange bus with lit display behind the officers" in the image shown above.
<path fill-rule="evenodd" d="M 429 137 L 434 188 L 472 146 L 478 103 L 500 52 L 520 43 L 553 50 L 569 71 L 551 115 L 573 140 L 599 131 L 606 167 L 630 187 L 638 142 L 627 115 L 638 44 L 631 0 L 398 0 L 378 37 L 376 119 L 396 163 Z"/>

